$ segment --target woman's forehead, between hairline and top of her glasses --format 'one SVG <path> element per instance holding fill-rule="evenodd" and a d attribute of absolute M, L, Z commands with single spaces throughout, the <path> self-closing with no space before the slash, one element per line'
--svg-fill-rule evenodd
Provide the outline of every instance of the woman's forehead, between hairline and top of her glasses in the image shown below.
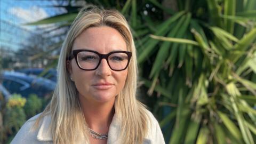
<path fill-rule="evenodd" d="M 91 27 L 84 30 L 75 39 L 72 49 L 86 49 L 100 53 L 127 51 L 123 36 L 118 30 L 108 26 Z"/>

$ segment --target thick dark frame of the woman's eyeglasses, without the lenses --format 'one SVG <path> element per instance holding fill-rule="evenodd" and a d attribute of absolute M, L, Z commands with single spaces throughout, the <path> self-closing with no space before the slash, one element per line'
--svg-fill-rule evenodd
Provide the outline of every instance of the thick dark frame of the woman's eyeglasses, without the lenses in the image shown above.
<path fill-rule="evenodd" d="M 78 60 L 77 60 L 77 54 L 78 54 L 79 52 L 93 52 L 93 53 L 96 53 L 97 55 L 99 55 L 99 62 L 98 62 L 98 65 L 97 65 L 94 69 L 84 69 L 84 68 L 82 68 L 82 67 L 79 65 Z M 116 70 L 116 69 L 113 69 L 113 68 L 110 67 L 109 62 L 108 62 L 108 57 L 109 57 L 109 55 L 111 55 L 111 54 L 113 54 L 113 53 L 125 53 L 125 54 L 128 55 L 128 61 L 127 61 L 127 65 L 126 65 L 125 68 L 123 68 L 123 69 L 121 69 L 121 70 Z M 101 54 L 101 53 L 99 53 L 99 52 L 97 52 L 97 51 L 93 51 L 93 50 L 78 49 L 78 50 L 73 50 L 72 53 L 71 53 L 71 55 L 69 55 L 69 57 L 67 58 L 67 60 L 72 60 L 73 58 L 75 58 L 76 64 L 77 64 L 77 66 L 78 66 L 80 69 L 82 69 L 82 70 L 95 70 L 95 69 L 97 69 L 97 68 L 100 66 L 101 60 L 102 60 L 102 59 L 106 59 L 106 60 L 107 60 L 107 63 L 108 63 L 108 66 L 109 66 L 109 68 L 110 68 L 111 70 L 122 71 L 122 70 L 125 70 L 125 69 L 129 66 L 131 57 L 132 57 L 132 52 L 129 52 L 129 51 L 113 51 L 113 52 L 109 52 L 109 53 L 107 53 L 107 54 Z"/>

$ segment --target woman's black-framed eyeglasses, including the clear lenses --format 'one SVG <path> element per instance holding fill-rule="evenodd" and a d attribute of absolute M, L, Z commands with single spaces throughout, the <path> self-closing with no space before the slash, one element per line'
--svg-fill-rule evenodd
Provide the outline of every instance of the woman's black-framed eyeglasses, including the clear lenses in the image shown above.
<path fill-rule="evenodd" d="M 68 60 L 76 59 L 77 66 L 83 70 L 95 70 L 99 67 L 102 59 L 106 59 L 110 69 L 115 71 L 125 70 L 132 57 L 132 52 L 113 51 L 101 54 L 92 50 L 74 50 Z"/>

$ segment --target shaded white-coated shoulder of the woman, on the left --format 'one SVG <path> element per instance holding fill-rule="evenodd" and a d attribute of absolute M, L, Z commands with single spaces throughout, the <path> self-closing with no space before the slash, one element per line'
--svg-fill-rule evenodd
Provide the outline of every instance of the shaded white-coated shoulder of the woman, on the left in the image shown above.
<path fill-rule="evenodd" d="M 18 133 L 13 138 L 12 143 L 41 143 L 44 141 L 42 134 L 47 134 L 45 128 L 49 128 L 51 120 L 50 116 L 43 116 L 37 127 L 35 126 L 36 120 L 42 115 L 37 114 L 22 125 Z M 50 122 L 49 122 L 50 121 Z M 49 130 L 49 129 L 48 129 Z"/>

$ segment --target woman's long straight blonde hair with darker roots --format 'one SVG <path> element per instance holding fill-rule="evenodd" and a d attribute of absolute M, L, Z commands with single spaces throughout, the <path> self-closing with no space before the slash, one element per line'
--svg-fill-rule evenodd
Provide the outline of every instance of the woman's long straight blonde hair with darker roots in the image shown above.
<path fill-rule="evenodd" d="M 69 78 L 66 60 L 71 53 L 75 38 L 87 28 L 99 26 L 108 26 L 118 30 L 126 41 L 127 50 L 132 52 L 124 88 L 116 96 L 115 101 L 115 115 L 121 118 L 119 143 L 142 143 L 146 137 L 150 120 L 146 108 L 135 98 L 138 67 L 129 25 L 123 15 L 116 10 L 89 7 L 78 13 L 70 27 L 60 52 L 57 87 L 51 102 L 37 119 L 39 123 L 43 116 L 51 115 L 50 127 L 53 143 L 75 143 L 78 138 L 89 140 L 87 124 L 79 106 L 75 84 Z"/>

